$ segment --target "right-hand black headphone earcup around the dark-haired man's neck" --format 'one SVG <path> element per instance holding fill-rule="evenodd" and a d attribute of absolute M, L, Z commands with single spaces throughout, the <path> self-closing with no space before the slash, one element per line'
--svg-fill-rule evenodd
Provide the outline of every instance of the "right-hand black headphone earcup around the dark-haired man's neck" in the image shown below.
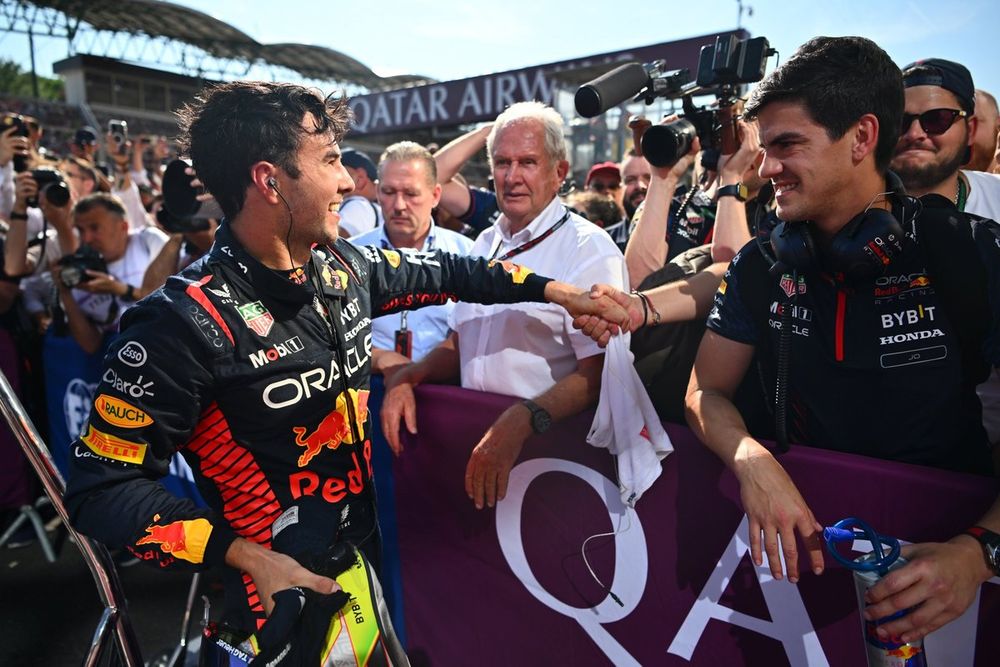
<path fill-rule="evenodd" d="M 892 260 L 903 252 L 903 227 L 881 208 L 855 216 L 833 237 L 824 255 L 829 268 L 852 280 L 881 276 Z"/>

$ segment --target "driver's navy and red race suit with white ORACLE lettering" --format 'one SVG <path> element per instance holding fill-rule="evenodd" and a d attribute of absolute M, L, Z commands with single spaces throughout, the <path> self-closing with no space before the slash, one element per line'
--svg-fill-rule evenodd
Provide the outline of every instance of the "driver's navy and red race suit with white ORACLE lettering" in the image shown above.
<path fill-rule="evenodd" d="M 377 533 L 371 318 L 447 299 L 544 301 L 548 282 L 509 262 L 345 241 L 312 255 L 297 284 L 223 224 L 208 256 L 124 315 L 71 445 L 66 504 L 81 532 L 160 567 L 200 568 L 223 563 L 237 536 L 270 547 L 275 519 L 311 496 L 329 506 L 331 542 L 348 515 L 362 524 L 348 537 L 364 542 Z M 157 481 L 176 451 L 209 507 Z M 377 548 L 367 554 L 377 562 Z M 229 572 L 227 620 L 254 630 L 253 581 Z"/>

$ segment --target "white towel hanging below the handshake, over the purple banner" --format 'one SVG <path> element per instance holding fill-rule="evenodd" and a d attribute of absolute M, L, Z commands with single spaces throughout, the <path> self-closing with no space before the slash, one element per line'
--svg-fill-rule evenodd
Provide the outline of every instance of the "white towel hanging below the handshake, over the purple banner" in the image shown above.
<path fill-rule="evenodd" d="M 635 508 L 674 446 L 632 365 L 631 339 L 628 333 L 612 336 L 605 350 L 601 397 L 587 442 L 615 455 L 622 502 Z"/>

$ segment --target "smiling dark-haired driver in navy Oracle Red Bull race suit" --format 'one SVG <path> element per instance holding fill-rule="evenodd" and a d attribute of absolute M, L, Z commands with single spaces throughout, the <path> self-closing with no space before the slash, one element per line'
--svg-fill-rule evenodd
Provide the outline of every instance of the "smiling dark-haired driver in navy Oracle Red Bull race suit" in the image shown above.
<path fill-rule="evenodd" d="M 353 189 L 344 100 L 235 82 L 182 112 L 198 177 L 226 220 L 202 260 L 122 318 L 88 424 L 71 446 L 73 524 L 164 568 L 226 564 L 227 621 L 256 630 L 271 595 L 333 579 L 271 550 L 306 498 L 331 539 L 379 562 L 367 411 L 371 318 L 442 303 L 550 301 L 626 322 L 610 299 L 511 263 L 338 239 Z M 208 507 L 158 482 L 180 451 Z"/>

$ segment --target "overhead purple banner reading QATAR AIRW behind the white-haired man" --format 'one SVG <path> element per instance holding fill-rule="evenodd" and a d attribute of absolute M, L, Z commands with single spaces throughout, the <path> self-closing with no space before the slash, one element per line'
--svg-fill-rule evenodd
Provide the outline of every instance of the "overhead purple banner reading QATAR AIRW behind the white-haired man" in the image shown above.
<path fill-rule="evenodd" d="M 740 38 L 748 35 L 744 30 L 720 34 L 733 34 Z M 691 37 L 509 72 L 357 95 L 350 99 L 354 112 L 351 134 L 398 132 L 493 120 L 514 102 L 527 100 L 552 104 L 560 72 L 577 69 L 594 68 L 593 76 L 598 76 L 622 63 L 663 59 L 669 69 L 688 68 L 693 78 L 698 71 L 701 47 L 713 44 L 715 37 L 714 34 Z M 606 67 L 602 67 L 604 65 Z"/>

